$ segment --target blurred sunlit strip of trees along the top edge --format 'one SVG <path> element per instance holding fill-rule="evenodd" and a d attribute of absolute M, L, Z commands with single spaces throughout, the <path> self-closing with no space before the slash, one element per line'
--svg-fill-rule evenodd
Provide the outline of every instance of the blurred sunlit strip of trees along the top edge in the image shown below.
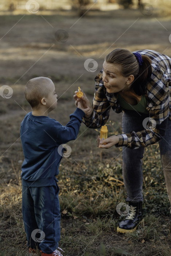
<path fill-rule="evenodd" d="M 24 10 L 26 2 L 24 0 L 1 0 L 1 11 Z M 79 16 L 85 14 L 90 7 L 91 10 L 112 10 L 135 9 L 142 8 L 144 4 L 147 5 L 146 0 L 39 0 L 37 2 L 40 4 L 40 10 L 77 10 Z M 148 4 L 165 11 L 171 7 L 171 2 L 167 0 L 149 0 Z"/>

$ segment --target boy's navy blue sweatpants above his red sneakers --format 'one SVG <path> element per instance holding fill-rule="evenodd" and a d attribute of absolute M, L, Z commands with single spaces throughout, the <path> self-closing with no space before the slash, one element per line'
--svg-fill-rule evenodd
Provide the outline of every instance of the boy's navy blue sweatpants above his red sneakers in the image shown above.
<path fill-rule="evenodd" d="M 23 186 L 23 221 L 27 234 L 27 245 L 52 253 L 60 240 L 59 187 Z"/>

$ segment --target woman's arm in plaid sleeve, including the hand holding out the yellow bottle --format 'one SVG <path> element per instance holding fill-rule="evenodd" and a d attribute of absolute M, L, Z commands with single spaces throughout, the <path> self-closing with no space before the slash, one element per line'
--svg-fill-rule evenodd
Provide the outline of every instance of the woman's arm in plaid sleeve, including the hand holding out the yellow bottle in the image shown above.
<path fill-rule="evenodd" d="M 125 146 L 135 149 L 147 147 L 159 142 L 164 135 L 168 120 L 170 86 L 171 77 L 163 76 L 158 73 L 155 77 L 153 76 L 153 80 L 147 84 L 147 110 L 149 111 L 149 122 L 147 123 L 148 120 L 145 122 L 147 129 L 139 132 L 132 131 L 131 133 L 120 134 L 117 135 L 118 138 L 116 138 L 116 136 L 110 136 L 103 141 L 97 139 L 98 145 L 100 145 L 99 147 L 109 148 L 115 145 L 116 147 Z M 117 139 L 119 139 L 118 143 Z M 104 145 L 104 143 L 107 144 Z"/>

